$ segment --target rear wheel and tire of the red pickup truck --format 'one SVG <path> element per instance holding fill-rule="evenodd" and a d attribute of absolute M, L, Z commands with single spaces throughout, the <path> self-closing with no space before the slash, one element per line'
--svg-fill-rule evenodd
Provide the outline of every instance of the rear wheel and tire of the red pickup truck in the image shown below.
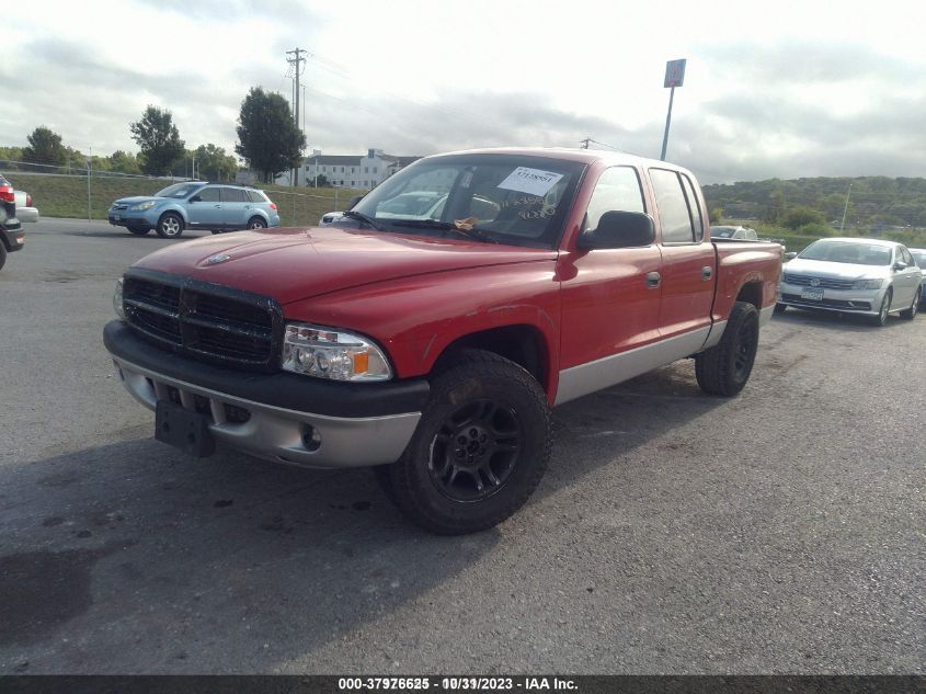
<path fill-rule="evenodd" d="M 720 342 L 695 356 L 695 376 L 701 390 L 732 397 L 750 379 L 758 348 L 758 311 L 736 302 Z"/>

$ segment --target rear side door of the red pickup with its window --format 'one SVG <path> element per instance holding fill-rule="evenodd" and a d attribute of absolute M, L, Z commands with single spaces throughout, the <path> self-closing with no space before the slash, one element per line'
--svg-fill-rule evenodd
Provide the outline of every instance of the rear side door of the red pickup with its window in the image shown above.
<path fill-rule="evenodd" d="M 711 325 L 717 254 L 713 243 L 704 239 L 701 201 L 691 180 L 667 169 L 650 169 L 650 180 L 662 228 L 660 333 L 663 339 L 690 334 L 690 340 L 682 340 L 685 351 Z"/>

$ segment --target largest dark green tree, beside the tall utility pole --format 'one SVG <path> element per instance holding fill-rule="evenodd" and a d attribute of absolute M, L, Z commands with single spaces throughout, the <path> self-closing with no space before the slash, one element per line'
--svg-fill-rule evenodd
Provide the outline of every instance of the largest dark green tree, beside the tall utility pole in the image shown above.
<path fill-rule="evenodd" d="M 235 151 L 271 182 L 300 163 L 305 147 L 306 136 L 293 122 L 286 100 L 252 87 L 241 102 Z"/>

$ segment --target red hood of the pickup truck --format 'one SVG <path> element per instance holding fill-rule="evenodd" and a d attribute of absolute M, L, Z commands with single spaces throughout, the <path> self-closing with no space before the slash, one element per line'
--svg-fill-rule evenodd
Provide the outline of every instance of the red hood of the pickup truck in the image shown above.
<path fill-rule="evenodd" d="M 183 275 L 289 304 L 435 272 L 555 260 L 557 251 L 313 227 L 222 234 L 146 255 L 134 268 Z"/>

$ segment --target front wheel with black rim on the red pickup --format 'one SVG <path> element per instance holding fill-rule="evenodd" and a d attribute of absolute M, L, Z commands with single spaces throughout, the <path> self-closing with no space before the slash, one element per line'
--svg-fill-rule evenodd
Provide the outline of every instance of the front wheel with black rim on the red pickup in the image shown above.
<path fill-rule="evenodd" d="M 405 452 L 376 476 L 425 530 L 477 533 L 524 505 L 551 446 L 550 408 L 534 377 L 498 354 L 466 350 L 434 376 Z"/>

